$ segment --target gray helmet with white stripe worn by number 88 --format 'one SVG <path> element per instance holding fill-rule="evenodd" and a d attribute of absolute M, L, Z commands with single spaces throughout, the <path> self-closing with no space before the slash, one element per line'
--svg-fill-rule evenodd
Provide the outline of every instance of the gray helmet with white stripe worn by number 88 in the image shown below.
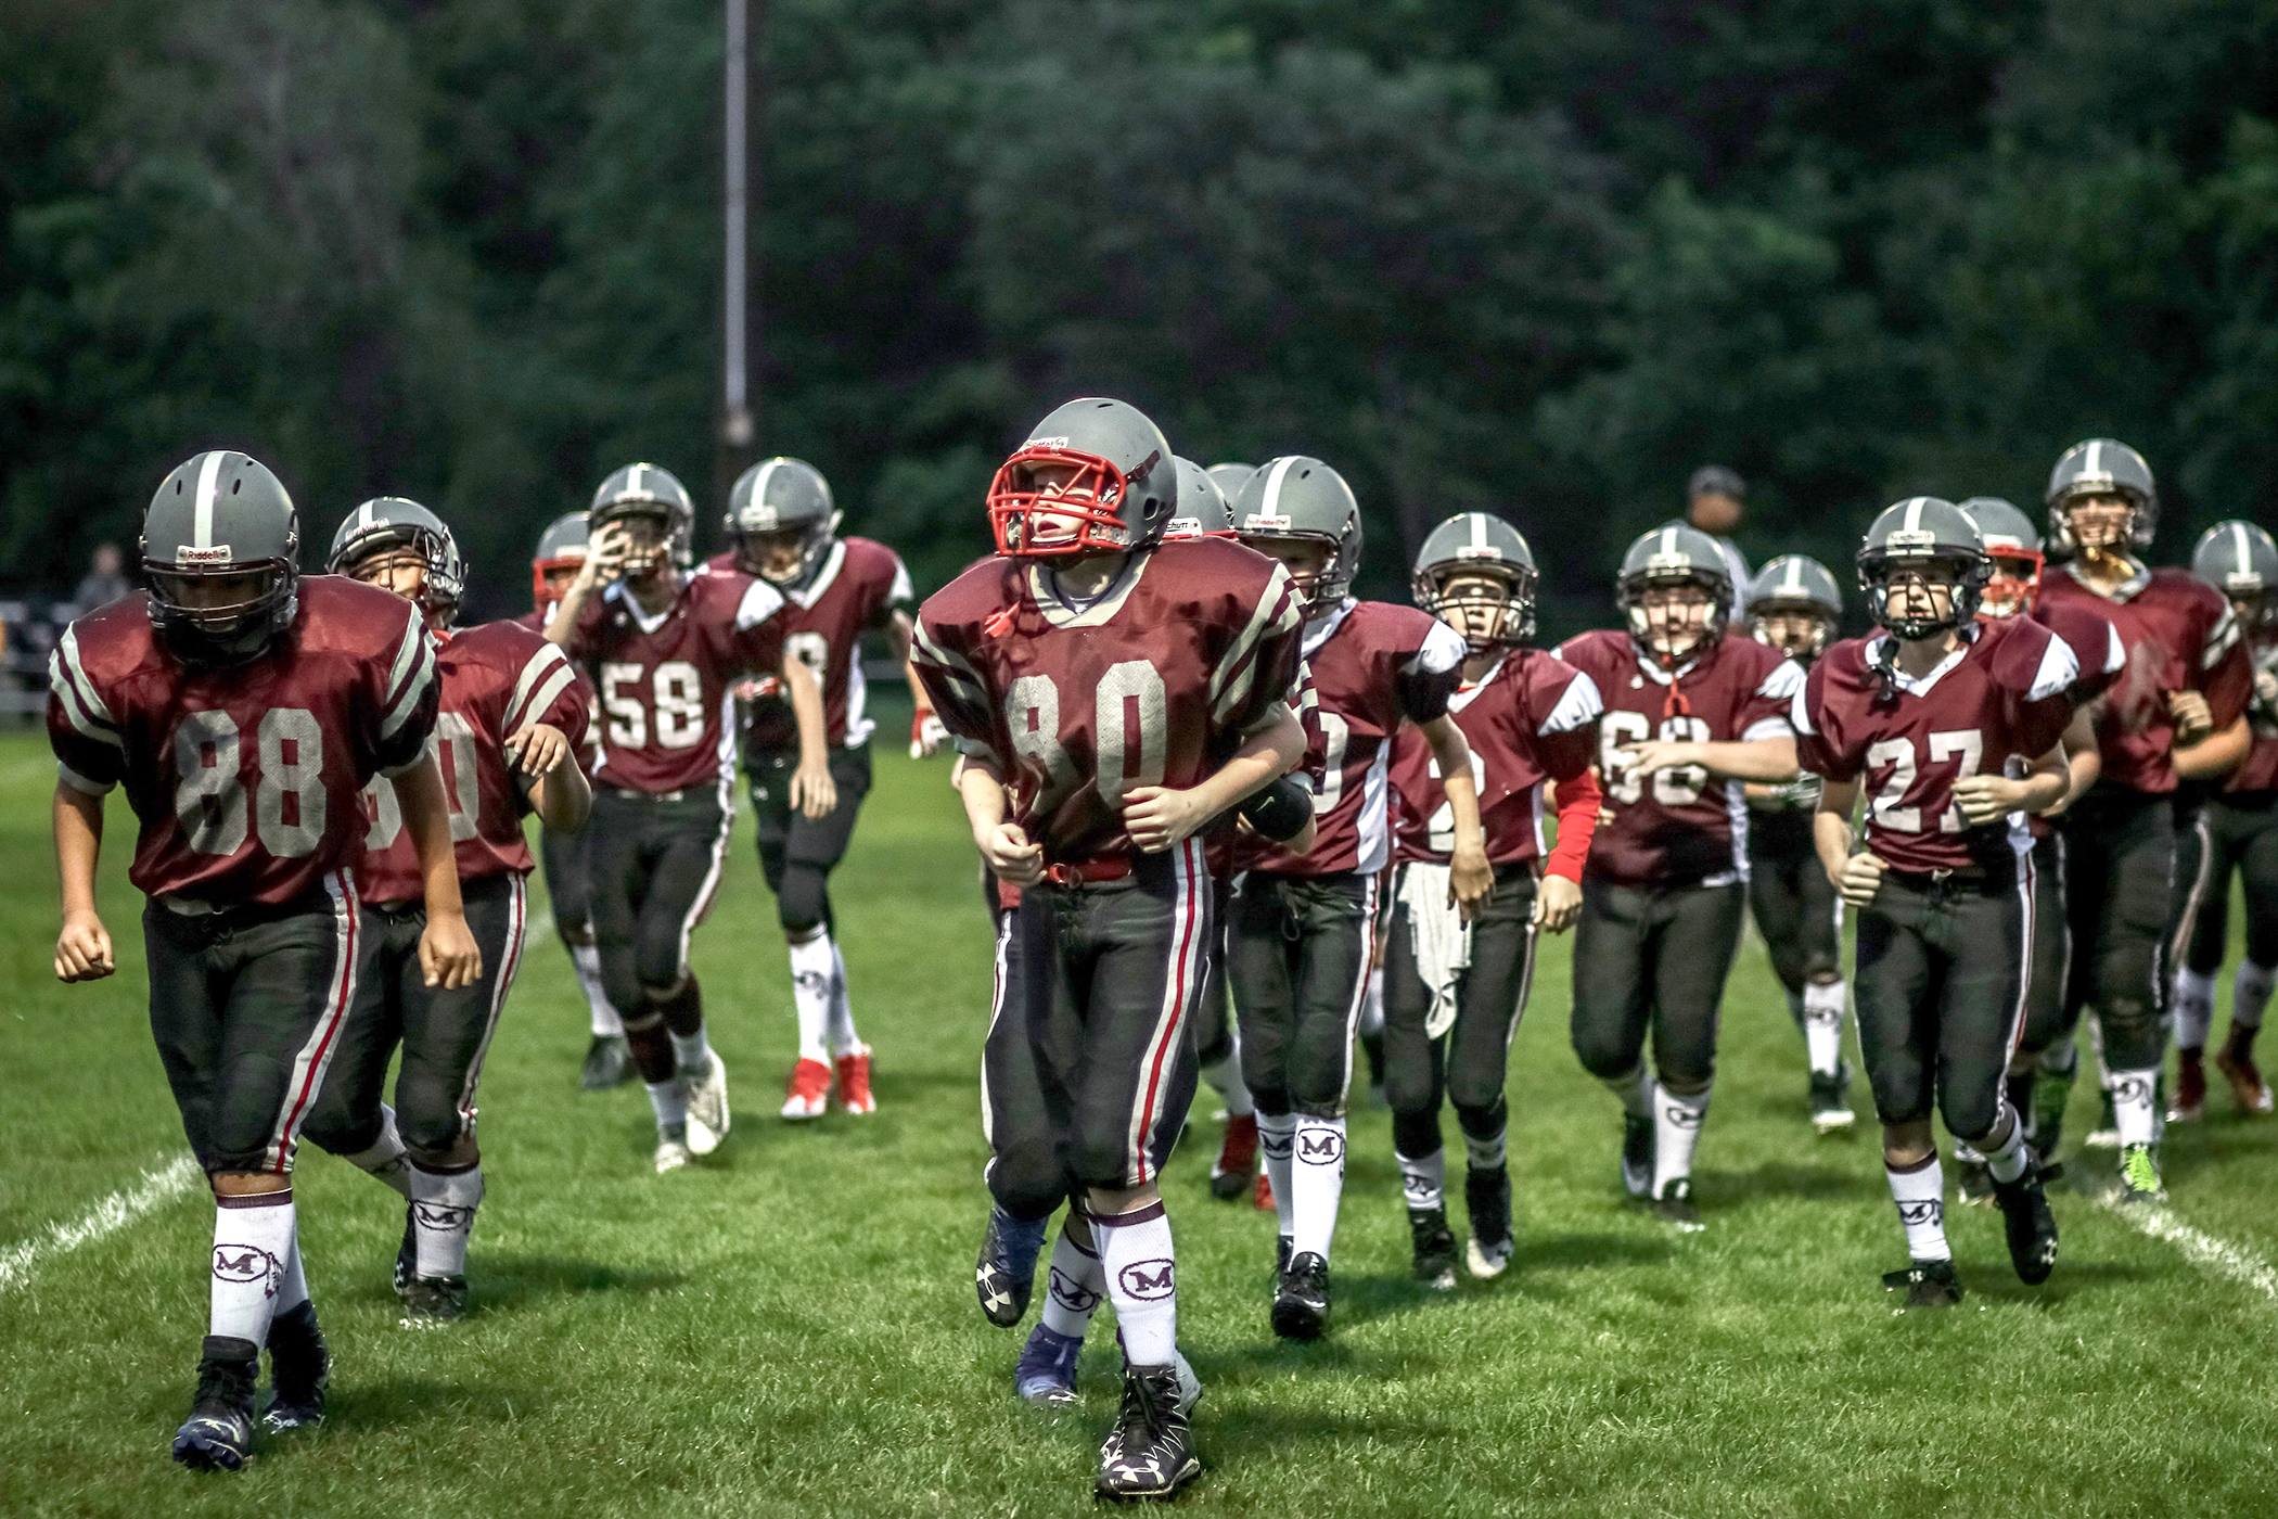
<path fill-rule="evenodd" d="M 251 660 L 301 610 L 301 512 L 267 465 L 230 449 L 198 453 L 159 481 L 141 560 L 150 624 L 185 665 Z"/>

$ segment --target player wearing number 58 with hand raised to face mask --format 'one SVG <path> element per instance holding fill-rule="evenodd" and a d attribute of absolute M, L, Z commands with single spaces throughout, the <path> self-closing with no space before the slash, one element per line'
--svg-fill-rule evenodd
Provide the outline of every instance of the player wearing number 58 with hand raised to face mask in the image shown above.
<path fill-rule="evenodd" d="M 727 1139 L 727 1066 L 704 1032 L 688 936 L 711 911 L 736 808 L 722 763 L 731 688 L 775 672 L 790 692 L 800 767 L 790 804 L 836 804 L 822 688 L 784 642 L 784 594 L 745 574 L 683 574 L 695 508 L 656 465 L 626 465 L 592 494 L 592 549 L 547 638 L 592 667 L 601 761 L 592 802 L 592 929 L 656 1111 L 656 1171 Z"/>

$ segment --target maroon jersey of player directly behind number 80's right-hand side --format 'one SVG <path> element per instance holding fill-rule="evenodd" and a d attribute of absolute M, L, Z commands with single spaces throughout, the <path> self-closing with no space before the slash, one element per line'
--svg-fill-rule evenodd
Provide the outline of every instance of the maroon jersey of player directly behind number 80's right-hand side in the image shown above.
<path fill-rule="evenodd" d="M 1305 624 L 1303 647 L 1314 845 L 1308 854 L 1257 845 L 1244 863 L 1294 877 L 1376 875 L 1392 859 L 1392 738 L 1403 722 L 1447 713 L 1467 649 L 1431 613 L 1390 601 L 1346 601 Z"/>

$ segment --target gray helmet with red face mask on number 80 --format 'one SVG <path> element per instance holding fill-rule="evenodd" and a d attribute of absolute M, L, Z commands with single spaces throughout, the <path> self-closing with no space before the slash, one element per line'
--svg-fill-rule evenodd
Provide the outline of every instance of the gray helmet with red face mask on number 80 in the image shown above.
<path fill-rule="evenodd" d="M 989 528 L 1014 558 L 1144 549 L 1175 515 L 1178 467 L 1162 428 L 1105 396 L 1055 408 L 989 483 Z"/>

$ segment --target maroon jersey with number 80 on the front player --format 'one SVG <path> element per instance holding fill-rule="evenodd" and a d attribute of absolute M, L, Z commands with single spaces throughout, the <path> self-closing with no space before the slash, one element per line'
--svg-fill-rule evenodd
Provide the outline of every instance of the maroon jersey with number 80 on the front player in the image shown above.
<path fill-rule="evenodd" d="M 1039 565 L 984 560 L 918 608 L 911 660 L 1046 861 L 1109 863 L 1132 849 L 1125 793 L 1196 786 L 1273 720 L 1301 629 L 1280 565 L 1196 537 L 1132 553 L 1084 606 Z"/>

